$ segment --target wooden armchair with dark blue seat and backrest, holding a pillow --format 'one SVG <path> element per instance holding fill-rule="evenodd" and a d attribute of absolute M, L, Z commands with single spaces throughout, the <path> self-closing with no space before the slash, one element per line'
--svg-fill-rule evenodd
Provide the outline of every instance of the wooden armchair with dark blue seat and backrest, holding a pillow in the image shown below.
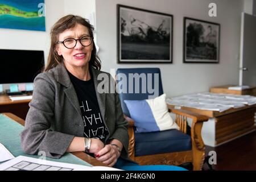
<path fill-rule="evenodd" d="M 136 73 L 138 73 L 137 77 L 141 76 L 137 81 L 132 77 Z M 124 79 L 125 77 L 126 79 Z M 205 158 L 205 146 L 201 138 L 201 128 L 203 122 L 208 121 L 208 117 L 187 110 L 170 109 L 172 113 L 176 114 L 175 122 L 180 127 L 180 130 L 136 133 L 134 121 L 130 118 L 129 110 L 124 101 L 145 100 L 148 99 L 148 96 L 152 98 L 163 94 L 160 69 L 117 69 L 117 85 L 121 85 L 119 82 L 125 80 L 127 82 L 122 82 L 122 92 L 119 88 L 119 98 L 121 100 L 123 114 L 125 115 L 124 117 L 129 121 L 129 157 L 141 165 L 168 164 L 178 166 L 186 162 L 191 162 L 193 164 L 193 170 L 201 170 Z M 146 92 L 145 89 L 142 89 L 142 80 L 146 81 L 147 84 L 147 81 L 152 82 L 151 87 L 154 88 L 154 96 L 148 92 L 148 89 L 146 89 Z M 131 89 L 133 92 L 130 90 L 131 93 L 128 92 L 129 86 L 133 86 L 133 89 Z M 139 90 L 138 88 L 135 90 L 135 86 L 139 86 Z M 124 88 L 126 90 L 123 90 Z M 192 118 L 193 120 L 191 127 L 187 125 L 187 118 Z M 187 131 L 191 135 L 188 135 Z"/>

